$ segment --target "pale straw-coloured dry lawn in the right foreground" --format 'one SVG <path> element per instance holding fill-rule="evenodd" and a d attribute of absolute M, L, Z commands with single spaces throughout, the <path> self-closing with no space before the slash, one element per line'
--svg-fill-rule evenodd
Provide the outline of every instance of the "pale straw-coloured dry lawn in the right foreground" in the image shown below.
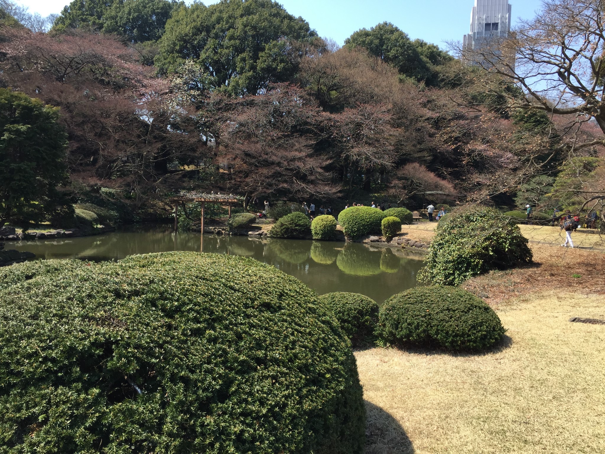
<path fill-rule="evenodd" d="M 603 295 L 501 303 L 508 346 L 484 355 L 356 352 L 367 454 L 604 453 Z"/>

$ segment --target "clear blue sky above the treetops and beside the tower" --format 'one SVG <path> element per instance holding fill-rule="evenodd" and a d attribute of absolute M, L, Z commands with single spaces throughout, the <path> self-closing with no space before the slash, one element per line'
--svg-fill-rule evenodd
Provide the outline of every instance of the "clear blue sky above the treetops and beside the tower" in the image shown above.
<path fill-rule="evenodd" d="M 216 1 L 204 1 L 205 4 Z M 21 0 L 31 12 L 59 13 L 66 0 Z M 286 10 L 302 16 L 319 36 L 342 44 L 359 28 L 389 21 L 410 35 L 444 47 L 468 33 L 474 0 L 281 0 Z M 531 19 L 541 0 L 511 0 L 513 23 Z"/>

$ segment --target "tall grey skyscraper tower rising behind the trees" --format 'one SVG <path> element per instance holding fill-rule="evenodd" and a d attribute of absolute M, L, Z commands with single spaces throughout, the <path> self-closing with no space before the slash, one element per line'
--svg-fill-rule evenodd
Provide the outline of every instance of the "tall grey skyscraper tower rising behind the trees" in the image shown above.
<path fill-rule="evenodd" d="M 479 50 L 495 45 L 499 38 L 508 37 L 511 31 L 511 5 L 508 0 L 475 0 L 471 12 L 471 33 L 464 36 L 463 48 L 468 51 Z M 477 61 L 468 61 L 477 65 Z"/>

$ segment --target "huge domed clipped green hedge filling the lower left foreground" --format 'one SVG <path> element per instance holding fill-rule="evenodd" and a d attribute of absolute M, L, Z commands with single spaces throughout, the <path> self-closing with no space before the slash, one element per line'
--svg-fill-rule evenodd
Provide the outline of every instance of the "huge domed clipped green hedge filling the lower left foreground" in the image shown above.
<path fill-rule="evenodd" d="M 361 453 L 344 332 L 313 291 L 194 252 L 0 270 L 0 450 Z"/>

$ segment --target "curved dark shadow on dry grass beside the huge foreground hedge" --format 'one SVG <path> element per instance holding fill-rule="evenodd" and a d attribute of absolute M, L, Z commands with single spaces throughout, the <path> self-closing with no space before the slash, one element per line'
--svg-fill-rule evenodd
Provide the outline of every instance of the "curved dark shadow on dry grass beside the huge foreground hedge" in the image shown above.
<path fill-rule="evenodd" d="M 414 454 L 414 447 L 401 424 L 381 407 L 365 402 L 365 454 Z"/>

